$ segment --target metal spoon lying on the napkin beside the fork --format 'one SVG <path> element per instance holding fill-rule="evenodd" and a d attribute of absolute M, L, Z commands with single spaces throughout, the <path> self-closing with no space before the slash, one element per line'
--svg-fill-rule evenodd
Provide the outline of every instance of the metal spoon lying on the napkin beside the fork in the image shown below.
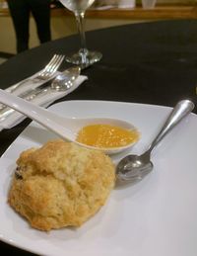
<path fill-rule="evenodd" d="M 81 68 L 79 66 L 67 68 L 63 72 L 60 72 L 50 85 L 40 85 L 33 90 L 20 94 L 19 97 L 26 101 L 33 101 L 34 98 L 41 97 L 47 93 L 66 91 L 72 87 L 73 82 L 80 75 L 80 72 Z M 3 105 L 0 108 L 0 121 L 4 120 L 14 111 L 14 109 L 10 109 L 9 107 Z"/>

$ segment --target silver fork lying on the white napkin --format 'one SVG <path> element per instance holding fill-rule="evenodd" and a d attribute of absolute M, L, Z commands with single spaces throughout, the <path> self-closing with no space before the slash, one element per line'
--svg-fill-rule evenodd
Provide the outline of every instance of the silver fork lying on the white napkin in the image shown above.
<path fill-rule="evenodd" d="M 21 83 L 18 83 L 12 86 L 9 89 L 9 92 L 10 93 L 15 92 L 17 89 L 19 89 L 29 81 L 33 83 L 37 83 L 37 82 L 49 79 L 57 71 L 58 67 L 61 65 L 64 58 L 65 58 L 64 55 L 54 54 L 53 57 L 48 62 L 48 64 L 35 77 L 27 78 L 23 80 Z"/>

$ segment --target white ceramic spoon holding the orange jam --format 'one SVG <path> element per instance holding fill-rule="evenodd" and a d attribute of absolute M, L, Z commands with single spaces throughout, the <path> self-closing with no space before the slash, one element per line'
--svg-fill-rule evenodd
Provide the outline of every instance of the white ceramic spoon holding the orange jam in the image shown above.
<path fill-rule="evenodd" d="M 31 102 L 25 101 L 15 95 L 12 95 L 4 90 L 0 90 L 0 102 L 8 105 L 10 108 L 24 114 L 25 116 L 31 118 L 39 125 L 44 128 L 50 129 L 55 132 L 60 137 L 74 141 L 75 143 L 86 146 L 89 148 L 100 149 L 107 154 L 113 154 L 130 148 L 135 142 L 131 142 L 126 146 L 112 147 L 112 148 L 98 148 L 94 146 L 88 146 L 76 141 L 77 134 L 79 130 L 85 126 L 91 124 L 105 124 L 112 125 L 120 128 L 126 129 L 136 129 L 130 123 L 116 119 L 76 119 L 76 118 L 64 118 L 58 116 L 57 114 L 50 112 L 46 109 L 40 108 Z"/>

